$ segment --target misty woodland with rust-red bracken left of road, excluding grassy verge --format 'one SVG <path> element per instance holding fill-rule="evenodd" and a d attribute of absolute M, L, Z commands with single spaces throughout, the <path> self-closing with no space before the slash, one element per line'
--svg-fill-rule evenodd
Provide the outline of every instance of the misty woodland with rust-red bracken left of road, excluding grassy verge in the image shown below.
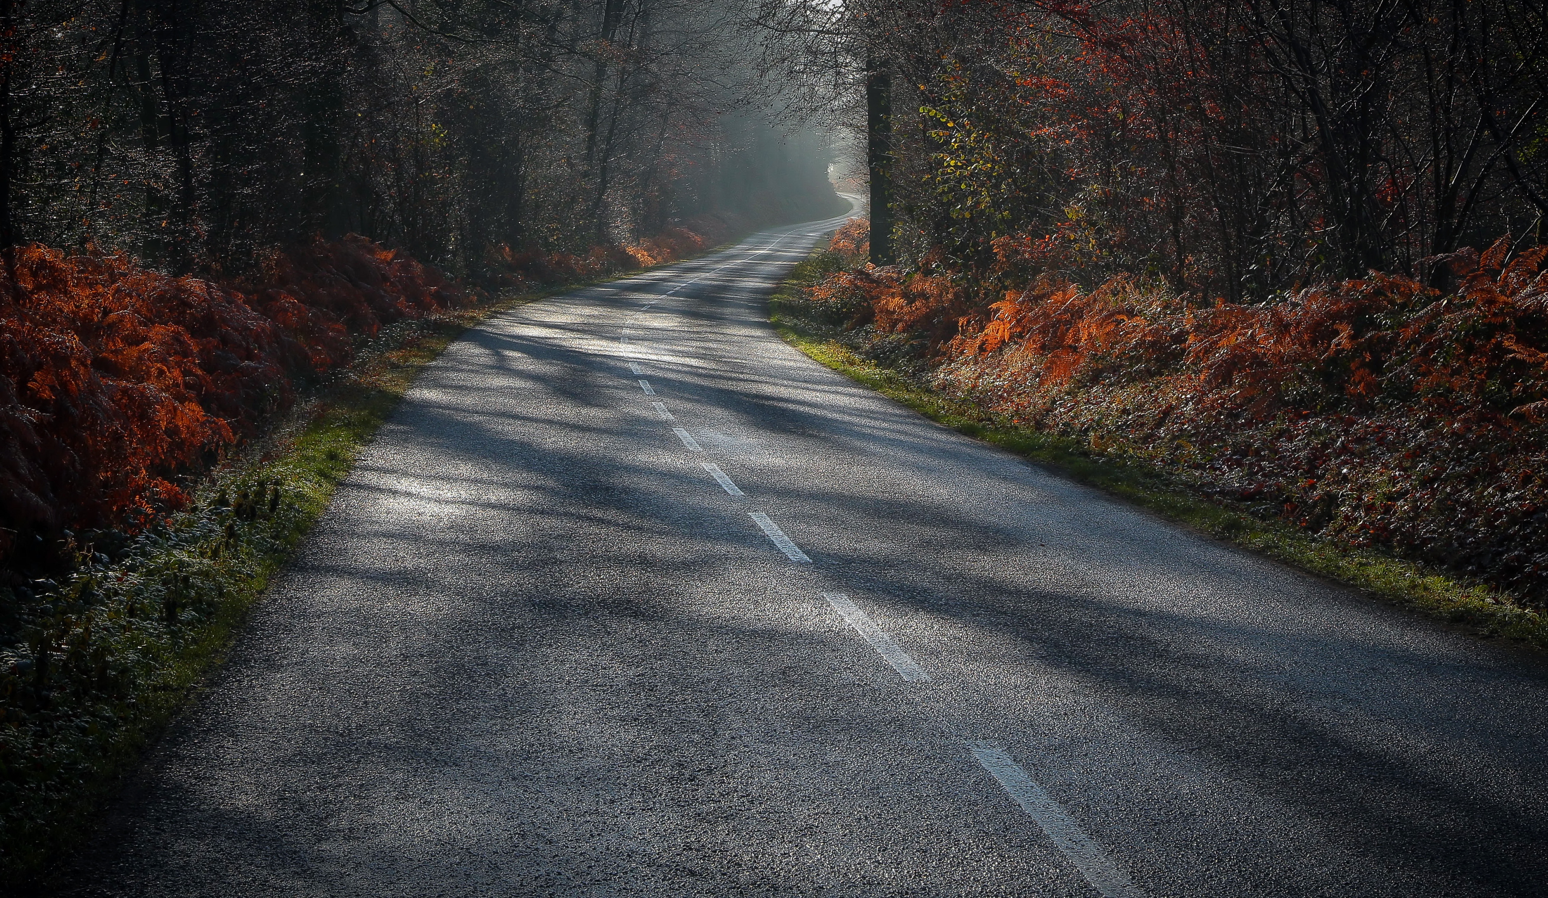
<path fill-rule="evenodd" d="M 772 115 L 745 25 L 0 3 L 0 588 L 181 506 L 382 324 L 839 211 L 830 138 Z"/>

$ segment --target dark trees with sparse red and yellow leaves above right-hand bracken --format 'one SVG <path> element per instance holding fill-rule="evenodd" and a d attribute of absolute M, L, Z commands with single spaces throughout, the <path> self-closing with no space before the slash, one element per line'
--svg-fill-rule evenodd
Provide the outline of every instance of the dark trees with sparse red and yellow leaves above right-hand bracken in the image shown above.
<path fill-rule="evenodd" d="M 808 90 L 870 87 L 906 262 L 1260 300 L 1370 269 L 1433 279 L 1430 257 L 1543 235 L 1539 2 L 765 0 L 759 17 L 785 71 L 830 73 Z"/>

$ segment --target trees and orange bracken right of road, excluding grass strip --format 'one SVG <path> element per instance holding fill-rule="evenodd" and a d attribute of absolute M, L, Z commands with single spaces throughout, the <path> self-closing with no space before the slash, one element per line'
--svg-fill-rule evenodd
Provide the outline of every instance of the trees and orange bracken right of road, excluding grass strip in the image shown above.
<path fill-rule="evenodd" d="M 1542 3 L 762 17 L 865 102 L 872 218 L 797 314 L 1091 457 L 1543 607 Z"/>

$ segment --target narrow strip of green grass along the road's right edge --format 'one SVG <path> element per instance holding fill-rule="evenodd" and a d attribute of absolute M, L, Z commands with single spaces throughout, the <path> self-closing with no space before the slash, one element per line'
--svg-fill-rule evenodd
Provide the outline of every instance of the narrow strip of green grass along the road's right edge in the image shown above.
<path fill-rule="evenodd" d="M 1241 548 L 1286 562 L 1396 605 L 1483 636 L 1503 636 L 1548 649 L 1548 615 L 1517 604 L 1481 584 L 1375 550 L 1319 539 L 1282 520 L 1206 499 L 1141 460 L 1105 455 L 1068 437 L 1015 424 L 968 398 L 932 389 L 915 372 L 859 356 L 837 330 L 800 316 L 802 290 L 831 272 L 831 259 L 814 257 L 791 271 L 771 297 L 771 324 L 811 359 L 901 403 L 926 418 L 1121 497 L 1163 517 Z"/>

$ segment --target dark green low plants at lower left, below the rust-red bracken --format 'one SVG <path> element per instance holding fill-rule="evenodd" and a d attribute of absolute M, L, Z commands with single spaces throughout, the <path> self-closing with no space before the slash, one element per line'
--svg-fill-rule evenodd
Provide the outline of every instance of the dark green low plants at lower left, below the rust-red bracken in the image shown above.
<path fill-rule="evenodd" d="M 132 760 L 195 684 L 198 664 L 294 547 L 317 508 L 280 482 L 237 477 L 207 508 L 80 551 L 0 646 L 0 873 L 60 848 L 108 774 Z"/>

